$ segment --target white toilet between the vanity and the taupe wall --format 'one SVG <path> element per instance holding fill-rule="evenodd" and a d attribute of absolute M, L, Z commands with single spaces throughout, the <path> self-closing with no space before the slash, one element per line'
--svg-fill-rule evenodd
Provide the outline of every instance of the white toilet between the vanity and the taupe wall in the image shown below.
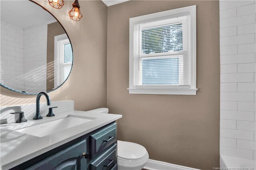
<path fill-rule="evenodd" d="M 95 113 L 108 113 L 108 108 L 90 110 Z M 148 162 L 148 152 L 140 144 L 117 141 L 118 170 L 141 170 Z"/>

